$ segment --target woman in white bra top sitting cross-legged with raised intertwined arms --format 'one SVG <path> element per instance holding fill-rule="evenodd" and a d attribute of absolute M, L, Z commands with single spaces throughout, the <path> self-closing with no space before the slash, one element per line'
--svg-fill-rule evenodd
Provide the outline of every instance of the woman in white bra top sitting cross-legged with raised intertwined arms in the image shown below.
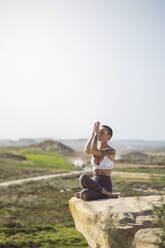
<path fill-rule="evenodd" d="M 111 173 L 116 151 L 107 142 L 113 132 L 106 125 L 99 127 L 99 121 L 94 123 L 92 135 L 85 146 L 85 152 L 92 155 L 93 178 L 82 174 L 79 181 L 83 189 L 75 194 L 77 198 L 86 201 L 120 197 L 120 192 L 112 193 Z M 99 148 L 97 141 L 100 141 Z"/>

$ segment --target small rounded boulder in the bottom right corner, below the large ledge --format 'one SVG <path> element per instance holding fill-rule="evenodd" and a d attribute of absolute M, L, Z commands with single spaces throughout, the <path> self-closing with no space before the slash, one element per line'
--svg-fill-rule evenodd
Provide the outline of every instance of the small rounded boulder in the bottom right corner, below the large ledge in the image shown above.
<path fill-rule="evenodd" d="M 146 228 L 139 230 L 133 242 L 134 248 L 159 248 L 161 243 L 160 235 L 162 230 L 160 228 Z"/>

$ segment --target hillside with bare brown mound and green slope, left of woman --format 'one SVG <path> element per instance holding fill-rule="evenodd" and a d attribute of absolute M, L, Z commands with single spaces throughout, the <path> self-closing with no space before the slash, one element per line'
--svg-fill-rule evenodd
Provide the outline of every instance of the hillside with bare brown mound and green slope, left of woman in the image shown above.
<path fill-rule="evenodd" d="M 7 146 L 0 149 L 0 182 L 75 169 L 74 150 L 60 142 L 46 140 L 29 146 Z"/>

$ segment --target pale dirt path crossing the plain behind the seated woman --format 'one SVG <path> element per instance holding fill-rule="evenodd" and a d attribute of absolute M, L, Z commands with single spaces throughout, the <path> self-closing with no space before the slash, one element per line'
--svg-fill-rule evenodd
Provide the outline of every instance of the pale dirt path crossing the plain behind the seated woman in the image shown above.
<path fill-rule="evenodd" d="M 54 178 L 54 177 L 61 177 L 61 176 L 81 175 L 82 173 L 86 173 L 86 172 L 92 172 L 92 168 L 84 168 L 81 171 L 71 171 L 71 172 L 59 173 L 59 174 L 53 174 L 53 175 L 45 175 L 45 176 L 36 176 L 36 177 L 17 179 L 17 180 L 12 180 L 12 181 L 8 181 L 8 182 L 0 183 L 0 186 L 9 186 L 9 185 L 12 185 L 12 184 L 21 184 L 21 183 L 24 183 L 24 182 L 38 181 L 38 180 L 49 179 L 49 178 Z M 152 175 L 154 177 L 165 176 L 165 175 L 162 175 L 162 174 L 152 174 Z M 112 177 L 150 179 L 151 174 L 113 171 Z"/>

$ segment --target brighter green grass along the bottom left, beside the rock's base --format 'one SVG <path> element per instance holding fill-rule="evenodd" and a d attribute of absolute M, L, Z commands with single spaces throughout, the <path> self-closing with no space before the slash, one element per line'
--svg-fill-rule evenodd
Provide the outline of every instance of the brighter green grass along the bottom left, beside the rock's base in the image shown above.
<path fill-rule="evenodd" d="M 31 226 L 24 228 L 1 228 L 0 247 L 41 247 L 41 248 L 87 248 L 86 240 L 78 233 L 73 223 Z"/>

